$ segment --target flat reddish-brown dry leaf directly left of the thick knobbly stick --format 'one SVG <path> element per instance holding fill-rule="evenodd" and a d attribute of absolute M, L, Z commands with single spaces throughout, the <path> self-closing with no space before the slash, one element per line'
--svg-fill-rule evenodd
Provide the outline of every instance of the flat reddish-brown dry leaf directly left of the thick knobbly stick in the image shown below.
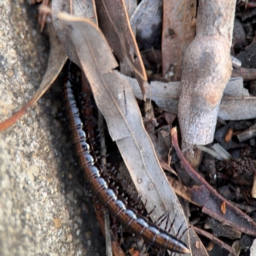
<path fill-rule="evenodd" d="M 184 52 L 195 38 L 196 0 L 163 3 L 163 76 L 180 81 Z"/>

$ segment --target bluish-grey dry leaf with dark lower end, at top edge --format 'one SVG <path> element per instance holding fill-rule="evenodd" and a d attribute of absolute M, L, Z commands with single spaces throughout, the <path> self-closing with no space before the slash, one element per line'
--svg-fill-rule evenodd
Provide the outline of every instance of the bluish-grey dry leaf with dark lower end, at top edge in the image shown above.
<path fill-rule="evenodd" d="M 160 40 L 162 8 L 162 0 L 143 0 L 131 16 L 131 29 L 138 44 L 144 44 L 142 46 L 145 49 L 154 46 Z"/>

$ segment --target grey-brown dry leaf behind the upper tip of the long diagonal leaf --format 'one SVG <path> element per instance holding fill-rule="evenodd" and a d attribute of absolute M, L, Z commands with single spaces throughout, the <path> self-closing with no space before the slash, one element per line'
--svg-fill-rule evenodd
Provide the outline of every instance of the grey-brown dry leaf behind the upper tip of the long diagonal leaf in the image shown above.
<path fill-rule="evenodd" d="M 55 32 L 61 40 L 61 44 L 68 58 L 80 66 L 79 58 L 71 38 L 67 32 L 67 27 L 57 18 L 59 12 L 67 12 L 77 17 L 84 17 L 97 24 L 96 7 L 93 0 L 53 0 L 52 20 Z"/>

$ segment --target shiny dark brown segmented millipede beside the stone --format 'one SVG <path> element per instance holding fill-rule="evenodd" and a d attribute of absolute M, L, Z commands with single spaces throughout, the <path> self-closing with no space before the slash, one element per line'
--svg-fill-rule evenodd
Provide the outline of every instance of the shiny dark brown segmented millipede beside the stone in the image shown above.
<path fill-rule="evenodd" d="M 78 108 L 73 93 L 73 82 L 67 77 L 62 88 L 62 97 L 66 111 L 68 129 L 71 133 L 75 154 L 81 170 L 93 195 L 103 207 L 108 209 L 109 214 L 116 218 L 119 223 L 135 236 L 142 237 L 144 241 L 166 250 L 176 253 L 189 253 L 188 247 L 172 236 L 166 230 L 161 230 L 143 216 L 137 215 L 137 211 L 128 207 L 127 202 L 120 198 L 116 189 L 109 185 L 108 177 L 104 177 L 102 167 L 96 159 L 93 151 L 89 132 L 84 130 L 81 115 L 82 110 Z"/>

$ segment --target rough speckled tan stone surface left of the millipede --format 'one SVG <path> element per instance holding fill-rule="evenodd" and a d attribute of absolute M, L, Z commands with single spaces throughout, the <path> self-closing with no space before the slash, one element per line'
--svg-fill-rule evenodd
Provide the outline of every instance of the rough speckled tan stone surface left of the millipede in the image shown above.
<path fill-rule="evenodd" d="M 0 2 L 0 121 L 28 102 L 44 75 L 48 41 L 36 15 L 23 0 Z M 0 255 L 105 254 L 65 125 L 55 118 L 58 91 L 0 132 Z"/>

